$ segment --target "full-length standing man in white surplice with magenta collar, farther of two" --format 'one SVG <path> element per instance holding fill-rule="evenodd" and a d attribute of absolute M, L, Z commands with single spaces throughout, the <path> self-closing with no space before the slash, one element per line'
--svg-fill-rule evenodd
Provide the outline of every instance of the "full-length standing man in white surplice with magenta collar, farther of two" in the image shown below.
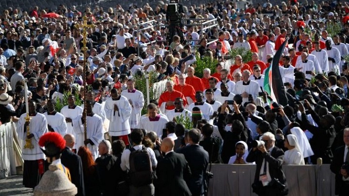
<path fill-rule="evenodd" d="M 141 111 L 144 107 L 143 93 L 135 89 L 134 79 L 129 79 L 127 81 L 127 90 L 122 91 L 121 95 L 127 98 L 131 104 L 132 112 L 129 122 L 131 129 L 136 129 L 140 123 Z"/>

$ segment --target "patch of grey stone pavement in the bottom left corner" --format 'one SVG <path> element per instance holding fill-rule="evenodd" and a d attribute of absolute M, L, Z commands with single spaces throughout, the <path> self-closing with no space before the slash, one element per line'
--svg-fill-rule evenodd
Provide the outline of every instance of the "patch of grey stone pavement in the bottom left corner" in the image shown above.
<path fill-rule="evenodd" d="M 23 176 L 9 176 L 0 180 L 0 196 L 33 196 L 33 189 L 22 185 Z"/>

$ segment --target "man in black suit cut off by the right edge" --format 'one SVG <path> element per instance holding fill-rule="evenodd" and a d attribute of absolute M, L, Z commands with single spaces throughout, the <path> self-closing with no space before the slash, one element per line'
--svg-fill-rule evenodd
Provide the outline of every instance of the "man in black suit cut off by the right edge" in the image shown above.
<path fill-rule="evenodd" d="M 345 145 L 338 147 L 334 151 L 333 162 L 331 163 L 331 171 L 336 175 L 335 194 L 339 196 L 349 196 L 349 173 L 342 165 L 349 163 L 349 128 L 343 131 L 343 140 Z"/>

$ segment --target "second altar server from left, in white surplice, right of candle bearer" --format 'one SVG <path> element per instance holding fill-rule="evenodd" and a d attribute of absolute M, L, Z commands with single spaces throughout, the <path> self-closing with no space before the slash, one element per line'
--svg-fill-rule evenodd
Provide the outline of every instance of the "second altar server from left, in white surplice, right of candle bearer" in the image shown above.
<path fill-rule="evenodd" d="M 47 119 L 47 128 L 49 131 L 58 132 L 62 137 L 67 134 L 67 122 L 63 114 L 57 112 L 54 108 L 56 102 L 53 99 L 47 101 L 47 112 L 44 113 Z"/>

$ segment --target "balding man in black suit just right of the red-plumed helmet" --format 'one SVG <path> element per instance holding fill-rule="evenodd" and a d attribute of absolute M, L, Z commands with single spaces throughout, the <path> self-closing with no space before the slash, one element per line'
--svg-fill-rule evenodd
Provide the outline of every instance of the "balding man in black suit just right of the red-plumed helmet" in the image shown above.
<path fill-rule="evenodd" d="M 80 156 L 71 151 L 75 145 L 75 137 L 66 134 L 64 140 L 66 140 L 66 148 L 62 152 L 61 163 L 69 168 L 71 183 L 78 188 L 77 196 L 85 196 L 83 164 Z"/>

